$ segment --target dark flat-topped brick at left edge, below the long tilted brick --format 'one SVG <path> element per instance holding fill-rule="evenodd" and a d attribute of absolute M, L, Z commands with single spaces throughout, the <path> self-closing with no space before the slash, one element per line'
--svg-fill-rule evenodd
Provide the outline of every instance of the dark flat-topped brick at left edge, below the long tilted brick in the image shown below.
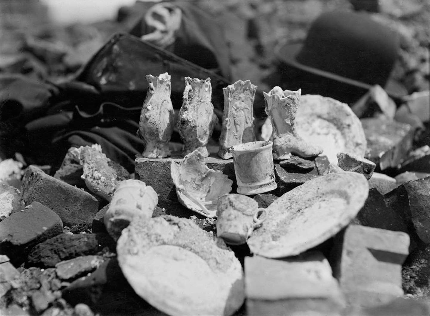
<path fill-rule="evenodd" d="M 0 223 L 0 251 L 8 255 L 13 264 L 20 264 L 31 248 L 62 232 L 60 217 L 39 202 L 33 202 L 24 211 Z"/>

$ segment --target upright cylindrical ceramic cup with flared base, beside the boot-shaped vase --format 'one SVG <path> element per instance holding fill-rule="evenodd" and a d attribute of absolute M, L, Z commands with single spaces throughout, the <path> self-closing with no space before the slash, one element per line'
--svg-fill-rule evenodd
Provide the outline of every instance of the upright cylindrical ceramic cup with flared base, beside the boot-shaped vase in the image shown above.
<path fill-rule="evenodd" d="M 251 141 L 230 147 L 237 193 L 258 194 L 276 189 L 271 141 Z"/>

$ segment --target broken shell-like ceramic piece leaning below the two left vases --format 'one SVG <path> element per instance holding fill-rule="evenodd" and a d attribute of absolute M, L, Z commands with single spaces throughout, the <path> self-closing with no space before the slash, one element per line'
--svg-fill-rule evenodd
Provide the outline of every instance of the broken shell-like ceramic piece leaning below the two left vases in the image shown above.
<path fill-rule="evenodd" d="M 216 217 L 218 197 L 230 193 L 233 184 L 221 171 L 209 169 L 199 150 L 187 154 L 179 164 L 172 161 L 170 174 L 179 202 L 207 217 Z"/>

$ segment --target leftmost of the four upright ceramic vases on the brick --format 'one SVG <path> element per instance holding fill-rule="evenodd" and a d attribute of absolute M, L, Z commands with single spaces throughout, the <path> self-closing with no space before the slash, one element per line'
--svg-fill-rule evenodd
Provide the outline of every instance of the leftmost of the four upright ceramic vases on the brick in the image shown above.
<path fill-rule="evenodd" d="M 147 75 L 148 91 L 140 113 L 137 135 L 143 139 L 142 156 L 164 158 L 170 156 L 169 141 L 173 132 L 174 115 L 170 93 L 170 75 Z"/>

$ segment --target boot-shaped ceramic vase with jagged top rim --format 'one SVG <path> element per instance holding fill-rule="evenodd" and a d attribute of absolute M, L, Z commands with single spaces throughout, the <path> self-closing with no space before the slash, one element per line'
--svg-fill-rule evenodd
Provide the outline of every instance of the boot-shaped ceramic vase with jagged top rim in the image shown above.
<path fill-rule="evenodd" d="M 269 93 L 263 94 L 265 111 L 273 126 L 273 159 L 289 159 L 291 153 L 304 158 L 322 153 L 322 148 L 308 144 L 296 131 L 295 117 L 300 105 L 301 89 L 282 91 L 276 86 Z"/>

